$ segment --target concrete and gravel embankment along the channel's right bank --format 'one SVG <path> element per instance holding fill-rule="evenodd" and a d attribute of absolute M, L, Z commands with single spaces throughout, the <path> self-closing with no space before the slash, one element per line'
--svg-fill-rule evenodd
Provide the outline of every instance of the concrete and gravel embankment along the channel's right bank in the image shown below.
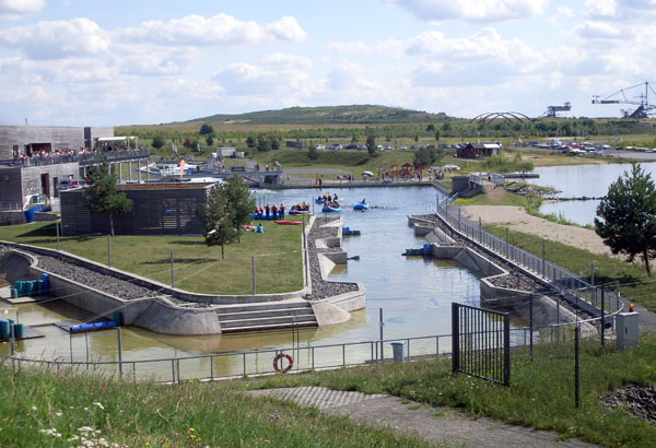
<path fill-rule="evenodd" d="M 513 310 L 520 318 L 528 320 L 530 300 L 532 299 L 534 326 L 544 327 L 557 321 L 574 321 L 575 313 L 565 307 L 559 307 L 557 300 L 550 296 L 551 287 L 548 283 L 530 273 L 523 272 L 519 267 L 514 267 L 511 273 L 494 261 L 495 257 L 488 256 L 487 250 L 472 250 L 447 235 L 437 223 L 424 216 L 408 216 L 408 225 L 414 228 L 418 236 L 423 236 L 433 243 L 432 256 L 438 259 L 457 261 L 471 272 L 478 273 L 480 279 L 481 304 L 484 307 L 503 307 Z M 505 260 L 509 263 L 509 261 Z M 522 279 L 522 276 L 526 276 Z M 502 284 L 513 284 L 516 287 L 504 287 Z M 595 331 L 589 326 L 589 331 Z"/>

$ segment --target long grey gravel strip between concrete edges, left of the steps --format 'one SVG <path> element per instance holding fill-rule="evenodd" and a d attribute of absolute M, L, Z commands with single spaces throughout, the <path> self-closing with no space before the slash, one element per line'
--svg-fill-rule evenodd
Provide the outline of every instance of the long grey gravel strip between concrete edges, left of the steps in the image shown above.
<path fill-rule="evenodd" d="M 11 248 L 11 246 L 0 245 L 0 251 Z M 38 267 L 44 271 L 63 276 L 98 291 L 104 291 L 126 300 L 133 300 L 143 297 L 159 297 L 164 295 L 159 290 L 139 286 L 129 281 L 97 272 L 91 269 L 91 266 L 84 267 L 82 264 L 72 263 L 56 257 L 32 252 L 23 248 L 21 248 L 21 251 L 27 252 L 36 258 Z M 175 303 L 181 303 L 181 300 L 172 296 L 167 297 Z"/>

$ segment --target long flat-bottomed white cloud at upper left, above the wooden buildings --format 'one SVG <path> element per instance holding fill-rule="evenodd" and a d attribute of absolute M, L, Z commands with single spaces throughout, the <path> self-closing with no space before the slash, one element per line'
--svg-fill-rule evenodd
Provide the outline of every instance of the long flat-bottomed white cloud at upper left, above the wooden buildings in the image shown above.
<path fill-rule="evenodd" d="M 300 42 L 306 34 L 294 17 L 284 16 L 260 25 L 221 13 L 207 19 L 194 14 L 168 22 L 149 21 L 138 27 L 120 30 L 118 36 L 127 43 L 161 46 L 226 46 L 274 40 Z"/>

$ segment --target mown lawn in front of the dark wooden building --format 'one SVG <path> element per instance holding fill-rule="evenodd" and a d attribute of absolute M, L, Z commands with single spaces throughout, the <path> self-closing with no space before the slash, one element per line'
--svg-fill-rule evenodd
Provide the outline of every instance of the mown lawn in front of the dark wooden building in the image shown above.
<path fill-rule="evenodd" d="M 294 217 L 294 216 L 292 216 Z M 263 222 L 265 233 L 244 232 L 242 243 L 208 247 L 201 236 L 115 236 L 112 266 L 171 284 L 171 250 L 175 285 L 207 294 L 251 294 L 251 256 L 255 256 L 257 292 L 282 293 L 303 287 L 302 225 Z M 0 227 L 0 239 L 57 248 L 54 223 Z M 106 236 L 61 237 L 61 250 L 107 263 Z"/>

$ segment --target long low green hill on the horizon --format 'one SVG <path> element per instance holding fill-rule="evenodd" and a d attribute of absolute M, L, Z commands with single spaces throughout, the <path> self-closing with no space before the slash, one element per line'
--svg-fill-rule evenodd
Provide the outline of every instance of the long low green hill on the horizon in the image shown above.
<path fill-rule="evenodd" d="M 237 115 L 212 115 L 186 123 L 208 125 L 367 125 L 427 122 L 447 118 L 445 114 L 429 114 L 399 107 L 354 105 L 323 107 L 290 107 Z"/>

